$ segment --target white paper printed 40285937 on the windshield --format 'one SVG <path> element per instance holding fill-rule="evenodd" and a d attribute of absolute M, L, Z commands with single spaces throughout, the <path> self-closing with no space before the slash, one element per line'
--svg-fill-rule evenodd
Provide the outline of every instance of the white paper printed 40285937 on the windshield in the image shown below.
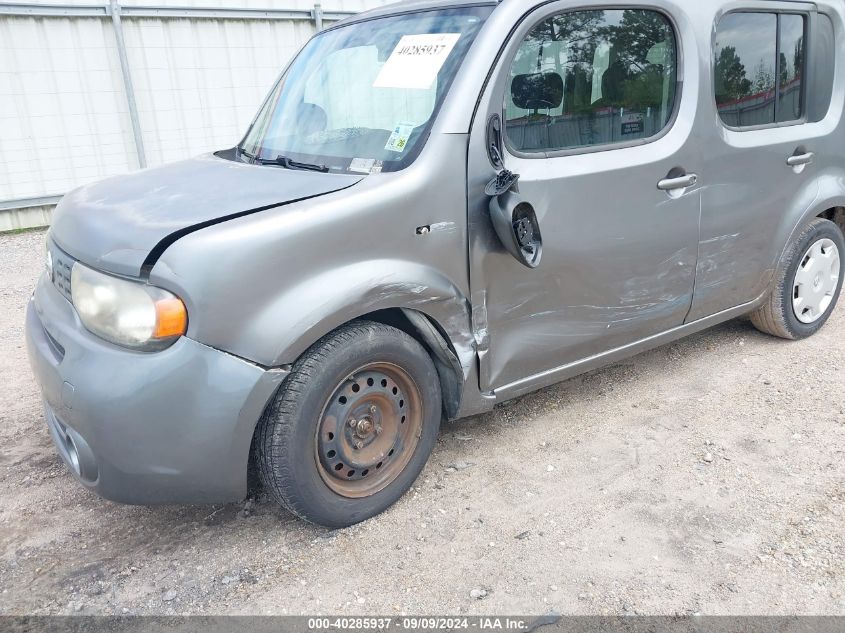
<path fill-rule="evenodd" d="M 373 87 L 428 90 L 460 37 L 460 33 L 403 36 L 382 66 Z"/>

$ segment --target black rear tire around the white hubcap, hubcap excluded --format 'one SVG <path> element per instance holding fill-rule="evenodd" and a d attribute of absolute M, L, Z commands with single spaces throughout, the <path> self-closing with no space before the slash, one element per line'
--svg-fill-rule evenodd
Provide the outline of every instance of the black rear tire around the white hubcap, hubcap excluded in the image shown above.
<path fill-rule="evenodd" d="M 808 249 L 825 238 L 831 240 L 839 249 L 839 281 L 833 299 L 824 313 L 812 323 L 803 323 L 795 314 L 792 304 L 795 275 Z M 787 249 L 775 273 L 771 294 L 763 305 L 751 313 L 751 323 L 754 327 L 761 332 L 789 340 L 807 338 L 818 332 L 833 313 L 839 300 L 843 281 L 843 257 L 845 239 L 839 226 L 822 218 L 810 222 Z"/>

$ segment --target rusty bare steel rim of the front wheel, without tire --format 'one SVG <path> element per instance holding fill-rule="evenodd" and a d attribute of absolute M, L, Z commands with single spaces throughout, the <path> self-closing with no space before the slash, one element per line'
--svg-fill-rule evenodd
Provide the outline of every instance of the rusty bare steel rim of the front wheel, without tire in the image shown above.
<path fill-rule="evenodd" d="M 422 424 L 419 387 L 401 367 L 361 367 L 323 408 L 315 456 L 320 476 L 343 497 L 376 494 L 408 465 Z"/>

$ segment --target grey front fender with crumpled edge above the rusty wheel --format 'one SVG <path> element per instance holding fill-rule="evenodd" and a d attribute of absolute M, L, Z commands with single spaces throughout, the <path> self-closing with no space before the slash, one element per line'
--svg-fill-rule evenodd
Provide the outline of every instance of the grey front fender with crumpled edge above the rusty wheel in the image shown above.
<path fill-rule="evenodd" d="M 265 367 L 343 323 L 406 308 L 448 335 L 467 376 L 465 157 L 464 136 L 433 135 L 407 169 L 185 235 L 149 281 L 185 302 L 188 337 Z"/>

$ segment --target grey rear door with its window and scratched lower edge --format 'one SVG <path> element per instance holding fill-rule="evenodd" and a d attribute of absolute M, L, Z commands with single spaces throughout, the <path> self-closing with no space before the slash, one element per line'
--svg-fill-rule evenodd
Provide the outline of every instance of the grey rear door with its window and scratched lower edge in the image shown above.
<path fill-rule="evenodd" d="M 813 5 L 748 2 L 715 16 L 703 128 L 701 248 L 693 321 L 756 299 L 772 278 L 786 217 L 817 193 L 819 143 L 808 121 Z"/>

